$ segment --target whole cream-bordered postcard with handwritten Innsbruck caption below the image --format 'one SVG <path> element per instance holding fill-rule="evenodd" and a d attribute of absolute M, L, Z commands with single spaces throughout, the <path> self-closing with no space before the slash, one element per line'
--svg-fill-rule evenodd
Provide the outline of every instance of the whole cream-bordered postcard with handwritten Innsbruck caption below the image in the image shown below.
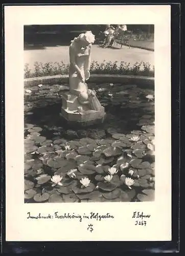
<path fill-rule="evenodd" d="M 6 241 L 170 241 L 170 15 L 7 6 Z"/>

